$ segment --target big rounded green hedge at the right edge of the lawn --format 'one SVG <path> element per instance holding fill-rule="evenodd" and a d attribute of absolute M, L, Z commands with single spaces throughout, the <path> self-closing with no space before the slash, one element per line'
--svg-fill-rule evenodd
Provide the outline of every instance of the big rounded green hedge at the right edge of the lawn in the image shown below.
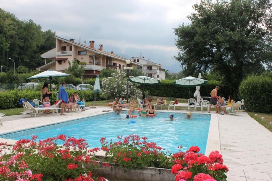
<path fill-rule="evenodd" d="M 239 97 L 244 99 L 248 111 L 258 113 L 272 112 L 271 77 L 250 76 L 239 86 Z"/>

